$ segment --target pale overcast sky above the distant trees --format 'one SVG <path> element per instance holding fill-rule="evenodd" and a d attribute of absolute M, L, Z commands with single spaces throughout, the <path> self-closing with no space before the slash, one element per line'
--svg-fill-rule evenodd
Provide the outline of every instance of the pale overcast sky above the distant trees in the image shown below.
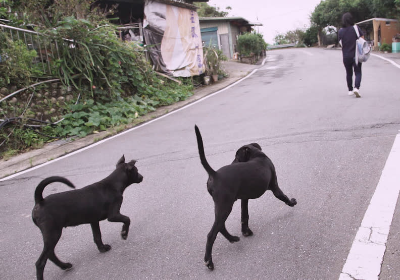
<path fill-rule="evenodd" d="M 321 0 L 209 0 L 208 5 L 228 12 L 228 17 L 242 17 L 251 22 L 262 23 L 255 29 L 263 34 L 264 40 L 274 43 L 277 34 L 289 30 L 307 29 L 310 15 Z M 232 10 L 226 10 L 226 7 Z"/>

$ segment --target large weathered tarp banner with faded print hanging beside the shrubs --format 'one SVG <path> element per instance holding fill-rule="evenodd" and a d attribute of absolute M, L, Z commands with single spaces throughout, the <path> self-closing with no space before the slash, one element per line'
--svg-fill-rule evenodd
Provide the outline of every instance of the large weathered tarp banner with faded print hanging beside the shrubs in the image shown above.
<path fill-rule="evenodd" d="M 158 71 L 175 77 L 198 76 L 205 72 L 197 12 L 146 0 L 143 27 Z"/>

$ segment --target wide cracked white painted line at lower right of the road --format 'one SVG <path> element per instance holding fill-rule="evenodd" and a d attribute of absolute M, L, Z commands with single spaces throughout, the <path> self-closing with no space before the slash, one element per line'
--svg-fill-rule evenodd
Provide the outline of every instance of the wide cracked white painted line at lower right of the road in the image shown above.
<path fill-rule="evenodd" d="M 394 139 L 339 280 L 379 278 L 390 224 L 400 191 L 398 166 L 400 166 L 400 134 Z"/>

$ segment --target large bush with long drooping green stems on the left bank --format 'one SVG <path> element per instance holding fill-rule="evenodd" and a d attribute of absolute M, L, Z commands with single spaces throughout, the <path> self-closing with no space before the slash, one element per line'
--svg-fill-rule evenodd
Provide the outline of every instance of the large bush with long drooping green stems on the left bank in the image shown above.
<path fill-rule="evenodd" d="M 46 31 L 48 40 L 57 41 L 60 47 L 61 59 L 53 61 L 54 75 L 94 100 L 101 95 L 157 94 L 161 80 L 145 60 L 144 49 L 120 41 L 114 26 L 101 24 L 67 17 Z"/>

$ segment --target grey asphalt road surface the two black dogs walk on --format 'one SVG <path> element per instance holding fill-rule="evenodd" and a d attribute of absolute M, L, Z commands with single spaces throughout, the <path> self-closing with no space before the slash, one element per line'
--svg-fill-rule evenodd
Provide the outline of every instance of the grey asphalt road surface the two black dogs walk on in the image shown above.
<path fill-rule="evenodd" d="M 67 228 L 56 254 L 73 269 L 48 261 L 46 279 L 337 279 L 398 134 L 393 81 L 399 70 L 371 57 L 363 65 L 362 98 L 356 98 L 347 96 L 339 51 L 274 50 L 268 58 L 225 91 L 0 182 L 0 278 L 35 278 L 42 238 L 30 213 L 42 179 L 65 176 L 83 187 L 110 174 L 125 154 L 138 160 L 144 176 L 124 193 L 128 239 L 120 237 L 121 223 L 102 221 L 103 241 L 112 249 L 99 253 L 90 226 Z M 258 142 L 275 164 L 280 188 L 298 202 L 288 207 L 271 192 L 249 201 L 254 236 L 246 238 L 236 202 L 226 228 L 240 242 L 217 236 L 214 271 L 203 262 L 214 204 L 194 124 L 214 169 L 229 164 L 241 145 Z M 44 195 L 67 189 L 53 184 Z M 389 236 L 394 251 L 396 240 L 398 234 Z"/>

